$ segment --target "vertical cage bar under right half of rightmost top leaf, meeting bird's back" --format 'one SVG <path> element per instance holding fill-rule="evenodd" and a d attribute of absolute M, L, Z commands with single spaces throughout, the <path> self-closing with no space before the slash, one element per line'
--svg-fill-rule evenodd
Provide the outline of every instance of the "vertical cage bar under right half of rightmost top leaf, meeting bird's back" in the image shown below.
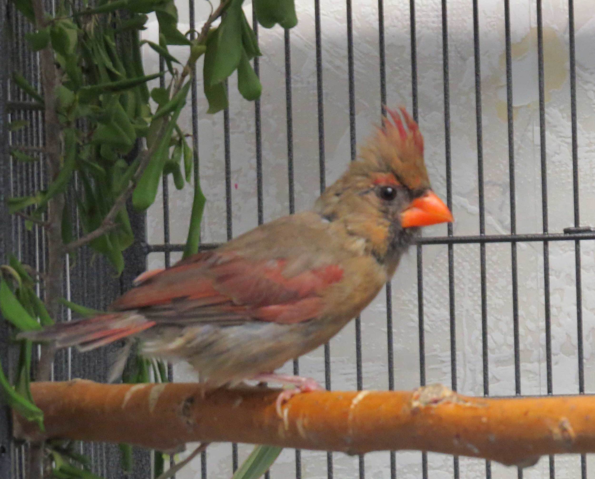
<path fill-rule="evenodd" d="M 292 102 L 292 50 L 289 30 L 284 31 L 285 47 L 285 116 L 287 125 L 287 194 L 289 196 L 289 214 L 295 213 L 295 177 L 293 168 L 293 102 Z M 293 360 L 293 375 L 299 376 L 299 360 Z M 296 479 L 302 477 L 302 453 L 295 450 Z"/>

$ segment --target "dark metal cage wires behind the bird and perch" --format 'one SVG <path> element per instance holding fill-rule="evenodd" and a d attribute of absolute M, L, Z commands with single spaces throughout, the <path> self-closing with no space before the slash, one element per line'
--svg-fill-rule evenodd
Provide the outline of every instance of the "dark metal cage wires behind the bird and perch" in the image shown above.
<path fill-rule="evenodd" d="M 316 84 L 317 84 L 317 118 L 318 118 L 318 163 L 320 167 L 320 191 L 325 188 L 325 119 L 324 119 L 324 87 L 323 87 L 323 59 L 322 59 L 322 31 L 321 31 L 321 8 L 320 0 L 314 1 L 314 27 L 315 27 L 315 56 L 316 56 Z M 453 186 L 452 186 L 452 155 L 451 155 L 451 115 L 450 115 L 450 77 L 449 77 L 449 31 L 448 31 L 448 9 L 447 0 L 441 0 L 441 40 L 442 40 L 442 75 L 443 75 L 443 107 L 444 107 L 444 158 L 446 168 L 446 202 L 452 209 L 453 206 Z M 426 384 L 426 343 L 424 327 L 424 251 L 427 245 L 445 245 L 447 253 L 447 272 L 448 272 L 448 304 L 449 304 L 449 324 L 450 324 L 450 378 L 451 387 L 457 389 L 457 365 L 456 365 L 456 298 L 455 298 L 455 246 L 459 244 L 478 244 L 479 263 L 480 263 L 480 292 L 481 292 L 481 357 L 483 367 L 483 393 L 490 395 L 489 382 L 489 358 L 488 358 L 488 311 L 487 311 L 487 265 L 486 265 L 486 244 L 502 243 L 510 245 L 511 257 L 511 286 L 512 286 L 512 324 L 513 324 L 513 355 L 514 355 L 514 385 L 515 394 L 522 395 L 521 391 L 521 355 L 519 340 L 519 275 L 518 275 L 518 254 L 517 247 L 519 243 L 540 242 L 543 245 L 543 291 L 544 291 L 544 324 L 545 324 L 545 342 L 546 342 L 546 374 L 547 374 L 547 394 L 553 393 L 552 382 L 552 318 L 550 305 L 550 264 L 549 264 L 549 244 L 552 241 L 570 241 L 574 242 L 575 252 L 575 285 L 576 285 L 576 330 L 577 330 L 577 370 L 578 370 L 578 393 L 585 392 L 585 372 L 584 372 L 584 338 L 583 338 L 583 298 L 581 284 L 581 241 L 595 239 L 595 229 L 581 227 L 579 211 L 579 174 L 578 174 L 578 141 L 577 141 L 577 93 L 576 93 L 576 60 L 575 60 L 575 26 L 574 26 L 574 1 L 568 0 L 568 40 L 569 40 L 569 87 L 570 87 L 570 108 L 571 108 L 571 141 L 572 141 L 572 203 L 574 207 L 574 225 L 566 228 L 563 233 L 551 233 L 548 229 L 548 197 L 547 197 L 547 154 L 546 154 L 546 116 L 545 116 L 545 90 L 544 90 L 544 45 L 543 45 L 543 11 L 542 1 L 536 2 L 537 16 L 537 60 L 538 60 L 538 111 L 539 111 L 539 134 L 540 134 L 540 175 L 541 175 L 541 215 L 543 231 L 533 234 L 518 234 L 516 228 L 516 187 L 515 187 L 515 140 L 514 140 L 514 121 L 513 121 L 513 98 L 512 98 L 512 41 L 511 41 L 511 5 L 509 0 L 503 0 L 504 4 L 504 23 L 505 23 L 505 60 L 506 60 L 506 116 L 508 121 L 508 165 L 509 165 L 509 191 L 510 191 L 510 233 L 490 235 L 486 234 L 486 207 L 484 191 L 484 155 L 483 155 L 483 127 L 482 127 L 482 109 L 481 109 L 481 65 L 480 65 L 480 21 L 478 12 L 478 0 L 472 0 L 472 23 L 473 23 L 473 50 L 474 50 L 474 80 L 475 80 L 475 124 L 477 137 L 477 171 L 478 171 L 478 199 L 479 199 L 479 234 L 478 235 L 453 235 L 453 226 L 448 225 L 447 235 L 444 237 L 424 237 L 419 241 L 416 247 L 417 254 L 417 295 L 418 295 L 418 331 L 419 331 L 419 383 Z M 417 56 L 417 30 L 415 21 L 415 0 L 409 1 L 409 35 L 411 39 L 411 99 L 412 113 L 417 121 L 418 111 L 418 56 Z M 380 82 L 380 103 L 385 105 L 387 102 L 387 80 L 386 80 L 386 37 L 384 27 L 384 2 L 378 0 L 378 57 L 379 67 L 378 81 Z M 346 0 L 346 50 L 347 50 L 347 83 L 349 99 L 349 143 L 350 158 L 353 160 L 356 156 L 356 86 L 354 78 L 354 48 L 353 48 L 353 18 L 352 18 L 352 0 Z M 189 0 L 190 29 L 195 29 L 195 0 Z M 253 27 L 258 35 L 258 25 L 253 16 Z M 15 15 L 12 18 L 12 27 L 18 34 L 20 40 L 26 32 L 25 22 Z M 191 33 L 193 34 L 193 33 Z M 287 133 L 287 185 L 289 192 L 289 213 L 295 212 L 295 179 L 294 179 L 294 152 L 295 145 L 293 141 L 293 103 L 292 103 L 292 61 L 291 61 L 291 42 L 290 31 L 284 32 L 284 72 L 285 72 L 285 109 L 286 109 L 286 133 Z M 6 55 L 6 52 L 2 52 Z M 36 58 L 29 53 L 24 52 L 23 43 L 18 43 L 12 52 L 13 67 L 19 64 L 27 70 L 30 77 L 35 78 L 38 74 L 38 65 Z M 15 62 L 14 59 L 17 59 Z M 20 60 L 18 60 L 20 59 Z M 257 75 L 260 75 L 260 65 L 258 57 L 253 60 Z M 163 65 L 161 64 L 161 68 Z M 4 92 L 4 89 L 2 90 Z M 11 90 L 12 92 L 12 90 Z M 193 133 L 193 152 L 195 163 L 195 181 L 198 181 L 199 171 L 199 138 L 198 128 L 199 115 L 197 108 L 198 89 L 196 81 L 192 85 L 192 133 Z M 20 102 L 19 97 L 10 97 L 8 108 L 11 115 L 17 115 L 17 118 L 26 116 L 35 119 L 37 126 L 36 138 L 20 138 L 14 134 L 11 136 L 11 143 L 20 142 L 21 144 L 40 145 L 42 144 L 42 135 L 39 115 L 29 112 L 26 109 L 26 103 Z M 4 107 L 4 103 L 3 103 Z M 246 107 L 248 108 L 248 107 Z M 251 107 L 250 107 L 251 108 Z M 384 113 L 384 107 L 378 111 L 378 115 Z M 254 103 L 254 126 L 255 126 L 255 152 L 256 152 L 256 200 L 258 224 L 264 222 L 264 187 L 263 187 L 263 165 L 262 165 L 262 118 L 261 118 L 261 100 Z M 0 123 L 0 125 L 4 125 Z M 232 229 L 232 201 L 231 201 L 231 140 L 230 140 L 230 114 L 226 110 L 223 113 L 223 135 L 224 135 L 224 169 L 225 169 L 225 192 L 226 192 L 226 236 L 227 239 L 233 237 Z M 2 163 L 5 165 L 5 163 Z M 36 185 L 43 184 L 43 171 L 37 166 L 19 166 L 12 167 L 10 171 L 6 166 L 2 166 L 3 174 L 10 174 L 12 188 L 17 190 L 11 193 L 25 194 L 29 189 Z M 164 179 L 162 183 L 162 214 L 164 224 L 164 241 L 161 244 L 148 244 L 141 242 L 136 253 L 131 254 L 130 263 L 133 270 L 143 270 L 146 264 L 146 256 L 150 253 L 162 253 L 164 255 L 165 266 L 171 264 L 171 254 L 183 251 L 182 244 L 173 244 L 170 242 L 170 194 L 168 191 L 168 181 Z M 43 265 L 43 240 L 37 238 L 32 244 L 31 240 L 26 240 L 23 232 L 23 225 L 18 220 L 12 220 L 12 226 L 15 231 L 12 236 L 12 243 L 24 260 L 32 260 L 33 264 Z M 142 234 L 146 234 L 145 225 L 139 223 Z M 137 229 L 137 231 L 140 231 Z M 39 232 L 39 234 L 41 234 Z M 202 249 L 217 247 L 214 243 L 204 243 Z M 0 251 L 2 253 L 2 251 Z M 80 301 L 86 302 L 90 306 L 101 307 L 109 299 L 115 297 L 119 292 L 129 286 L 130 278 L 133 273 L 120 282 L 116 290 L 109 288 L 103 279 L 108 277 L 107 265 L 101 263 L 92 265 L 90 263 L 89 253 L 80 259 L 80 264 L 75 270 L 70 272 L 70 276 L 65 282 L 65 290 L 71 291 L 72 297 L 78 297 Z M 129 256 L 130 257 L 130 256 Z M 77 283 L 76 288 L 74 283 Z M 90 291 L 96 291 L 90 294 Z M 98 292 L 98 293 L 97 293 Z M 76 300 L 76 299 L 75 299 Z M 394 338 L 393 338 L 393 315 L 392 315 L 392 289 L 391 284 L 386 285 L 386 327 L 387 327 L 387 379 L 389 389 L 394 389 Z M 362 371 L 362 330 L 361 320 L 358 317 L 355 320 L 355 367 L 356 367 L 356 386 L 358 389 L 363 387 Z M 72 376 L 98 377 L 98 371 L 104 367 L 105 352 L 96 355 L 77 355 L 76 353 L 64 353 L 57 359 L 55 377 L 65 378 Z M 4 357 L 2 358 L 4 360 Z M 294 373 L 299 373 L 299 361 L 293 363 Z M 170 370 L 171 374 L 171 370 Z M 327 389 L 331 389 L 331 349 L 327 344 L 324 346 L 324 380 Z M 0 422 L 0 424 L 2 424 Z M 117 451 L 111 446 L 86 445 L 84 452 L 92 456 L 94 461 L 94 470 L 99 474 L 104 474 L 107 478 L 120 477 L 117 466 Z M 23 477 L 24 450 L 12 450 L 12 467 L 10 474 L 4 475 L 1 469 L 2 452 L 0 451 L 0 471 L 2 477 L 17 479 Z M 230 449 L 232 468 L 238 467 L 239 456 L 236 445 Z M 395 479 L 399 476 L 399 464 L 396 453 L 390 452 L 390 478 Z M 114 459 L 116 458 L 116 459 Z M 208 473 L 208 452 L 201 455 L 201 477 L 207 479 L 212 477 Z M 137 464 L 144 464 L 145 467 L 134 471 L 134 477 L 148 477 L 148 455 L 138 455 Z M 299 479 L 303 475 L 302 456 L 299 450 L 295 451 L 295 477 Z M 587 478 L 587 461 L 585 456 L 580 459 L 581 478 Z M 461 475 L 459 469 L 459 459 L 453 458 L 453 478 L 458 479 Z M 359 478 L 366 477 L 366 467 L 364 456 L 359 457 Z M 518 477 L 522 478 L 523 472 L 518 470 Z M 327 453 L 327 471 L 328 479 L 334 477 L 333 453 Z M 486 462 L 485 477 L 491 478 L 491 464 Z M 267 479 L 270 474 L 267 473 Z M 428 478 L 428 455 L 421 453 L 421 477 Z M 549 477 L 556 477 L 555 458 L 549 458 Z"/>

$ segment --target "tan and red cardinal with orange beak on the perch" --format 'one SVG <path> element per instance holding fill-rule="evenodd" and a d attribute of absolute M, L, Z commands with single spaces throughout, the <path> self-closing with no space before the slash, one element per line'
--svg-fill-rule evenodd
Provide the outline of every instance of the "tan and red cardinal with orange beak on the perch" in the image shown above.
<path fill-rule="evenodd" d="M 205 387 L 243 380 L 317 389 L 274 370 L 332 338 L 390 281 L 419 227 L 452 221 L 430 189 L 424 141 L 400 108 L 314 208 L 279 218 L 170 269 L 143 273 L 111 313 L 21 336 L 98 348 L 121 338 L 188 361 Z M 127 354 L 127 351 L 126 351 Z"/>

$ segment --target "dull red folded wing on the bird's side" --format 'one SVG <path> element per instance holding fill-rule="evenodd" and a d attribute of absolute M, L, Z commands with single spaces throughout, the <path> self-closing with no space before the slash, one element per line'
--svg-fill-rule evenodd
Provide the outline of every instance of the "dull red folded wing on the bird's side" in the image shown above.
<path fill-rule="evenodd" d="M 228 252 L 200 253 L 144 276 L 112 309 L 140 309 L 146 317 L 163 322 L 289 324 L 312 319 L 322 309 L 322 292 L 342 279 L 343 270 L 329 265 L 287 277 L 287 264 L 287 260 L 250 261 Z"/>

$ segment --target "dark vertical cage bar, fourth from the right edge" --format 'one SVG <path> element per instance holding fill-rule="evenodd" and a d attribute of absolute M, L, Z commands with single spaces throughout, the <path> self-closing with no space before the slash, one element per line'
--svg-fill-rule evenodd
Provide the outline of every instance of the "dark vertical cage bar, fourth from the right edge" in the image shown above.
<path fill-rule="evenodd" d="M 473 0 L 473 52 L 475 63 L 475 124 L 477 128 L 477 190 L 480 207 L 480 235 L 486 234 L 486 201 L 484 194 L 483 122 L 481 118 L 481 59 L 478 0 Z M 483 393 L 490 395 L 490 373 L 487 345 L 487 285 L 486 244 L 480 243 L 481 283 L 481 360 L 483 363 Z M 491 479 L 491 462 L 486 461 L 486 479 Z"/>

